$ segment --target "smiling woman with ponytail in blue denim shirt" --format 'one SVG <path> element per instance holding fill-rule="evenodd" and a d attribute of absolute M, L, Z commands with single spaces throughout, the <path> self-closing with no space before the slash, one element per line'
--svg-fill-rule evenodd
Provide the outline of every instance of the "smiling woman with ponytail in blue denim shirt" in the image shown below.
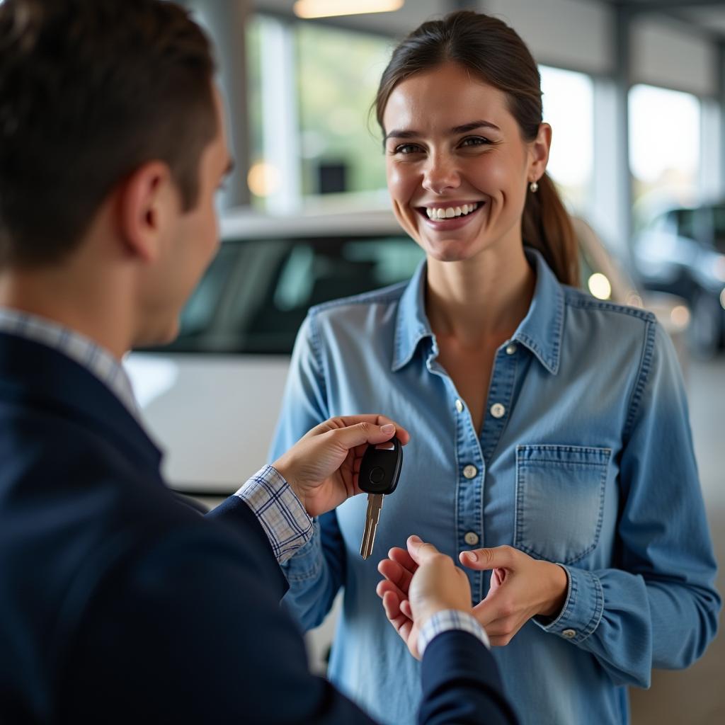
<path fill-rule="evenodd" d="M 273 453 L 378 408 L 412 442 L 373 557 L 358 555 L 357 497 L 290 560 L 286 601 L 309 629 L 344 587 L 331 679 L 412 723 L 418 663 L 378 609 L 377 563 L 409 534 L 452 556 L 505 547 L 462 561 L 521 721 L 625 723 L 625 686 L 692 663 L 720 605 L 671 344 L 649 312 L 573 289 L 539 73 L 507 25 L 424 23 L 376 111 L 394 212 L 426 262 L 410 283 L 310 310 Z"/>

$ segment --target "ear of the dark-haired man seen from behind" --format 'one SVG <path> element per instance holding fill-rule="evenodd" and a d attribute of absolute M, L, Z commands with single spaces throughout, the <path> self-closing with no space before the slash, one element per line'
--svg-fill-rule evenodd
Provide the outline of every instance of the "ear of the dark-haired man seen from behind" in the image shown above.
<path fill-rule="evenodd" d="M 118 190 L 118 221 L 127 251 L 144 262 L 159 255 L 165 225 L 178 204 L 169 167 L 152 161 L 138 167 Z"/>

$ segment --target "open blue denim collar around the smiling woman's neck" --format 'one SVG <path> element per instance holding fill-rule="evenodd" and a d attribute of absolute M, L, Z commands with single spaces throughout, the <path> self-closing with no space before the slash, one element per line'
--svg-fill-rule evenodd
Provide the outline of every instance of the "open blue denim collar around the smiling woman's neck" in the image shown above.
<path fill-rule="evenodd" d="M 555 374 L 559 369 L 564 324 L 564 291 L 539 252 L 529 247 L 524 247 L 524 252 L 537 274 L 537 282 L 529 312 L 511 339 L 530 349 L 544 368 Z M 421 340 L 433 337 L 426 316 L 426 269 L 423 260 L 400 298 L 393 347 L 393 372 L 410 362 Z"/>

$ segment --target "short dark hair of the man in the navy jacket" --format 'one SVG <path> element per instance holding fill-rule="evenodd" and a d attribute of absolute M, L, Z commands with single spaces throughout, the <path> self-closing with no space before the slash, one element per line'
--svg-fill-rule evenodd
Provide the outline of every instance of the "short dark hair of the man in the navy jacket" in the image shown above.
<path fill-rule="evenodd" d="M 62 260 L 154 159 L 193 208 L 218 133 L 213 73 L 209 41 L 173 2 L 0 4 L 0 265 Z"/>

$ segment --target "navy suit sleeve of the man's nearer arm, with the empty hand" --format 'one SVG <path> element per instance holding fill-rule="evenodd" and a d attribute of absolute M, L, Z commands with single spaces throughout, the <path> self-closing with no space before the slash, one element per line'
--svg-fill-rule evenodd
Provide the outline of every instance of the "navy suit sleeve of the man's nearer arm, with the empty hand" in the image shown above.
<path fill-rule="evenodd" d="M 104 577 L 59 668 L 54 721 L 372 724 L 308 671 L 257 532 L 230 543 L 214 529 L 170 534 Z M 490 653 L 470 634 L 431 641 L 423 690 L 421 725 L 515 722 Z"/>

